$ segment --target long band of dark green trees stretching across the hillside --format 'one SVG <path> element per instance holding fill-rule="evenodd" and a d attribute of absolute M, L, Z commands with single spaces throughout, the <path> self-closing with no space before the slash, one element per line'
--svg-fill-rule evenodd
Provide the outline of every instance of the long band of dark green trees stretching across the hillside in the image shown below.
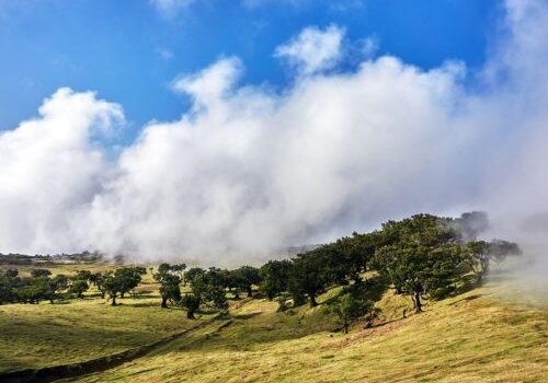
<path fill-rule="evenodd" d="M 153 278 L 160 286 L 161 306 L 182 306 L 190 318 L 201 306 L 228 309 L 228 298 L 253 297 L 254 288 L 270 300 L 278 300 L 281 310 L 287 302 L 294 306 L 309 302 L 334 286 L 343 293 L 331 303 L 344 328 L 363 316 L 374 317 L 374 303 L 367 301 L 367 271 L 393 287 L 397 293 L 411 298 L 416 312 L 424 299 L 447 295 L 467 275 L 481 281 L 493 262 L 518 255 L 515 243 L 478 240 L 489 225 L 483 212 L 464 213 L 459 218 L 415 214 L 400 221 L 388 221 L 379 230 L 346 236 L 306 251 L 290 259 L 270 260 L 261 267 L 242 266 L 233 270 L 212 267 L 186 268 L 185 264 L 161 264 Z M 1 302 L 30 302 L 69 292 L 81 298 L 89 283 L 96 286 L 116 304 L 116 298 L 135 291 L 146 274 L 144 267 L 122 267 L 104 274 L 80 271 L 76 277 L 56 276 L 34 270 L 31 278 L 18 277 L 16 270 L 0 276 Z M 182 287 L 184 287 L 182 291 Z"/>

